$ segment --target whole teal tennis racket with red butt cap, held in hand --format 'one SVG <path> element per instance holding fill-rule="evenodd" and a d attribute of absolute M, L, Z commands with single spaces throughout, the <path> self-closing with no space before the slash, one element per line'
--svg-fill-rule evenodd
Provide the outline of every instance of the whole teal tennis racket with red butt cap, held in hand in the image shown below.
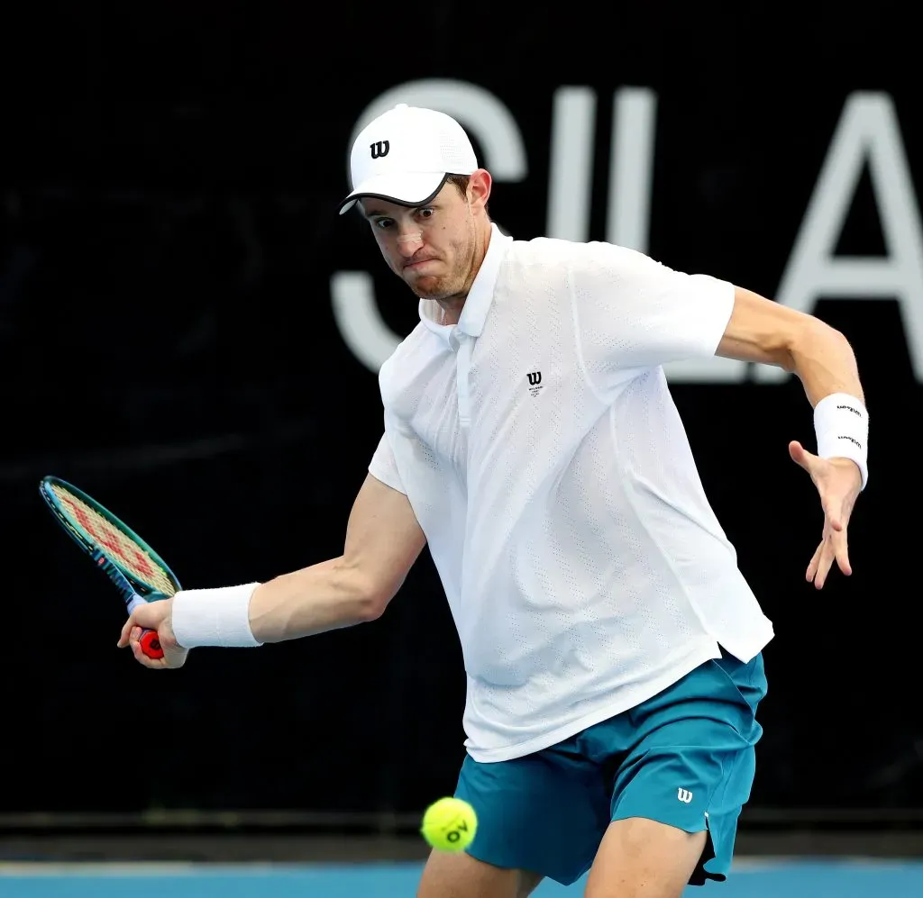
<path fill-rule="evenodd" d="M 99 502 L 56 477 L 42 478 L 39 490 L 66 534 L 114 583 L 129 614 L 143 602 L 179 591 L 179 581 L 160 555 Z M 149 658 L 163 657 L 156 632 L 145 630 L 139 642 Z"/>

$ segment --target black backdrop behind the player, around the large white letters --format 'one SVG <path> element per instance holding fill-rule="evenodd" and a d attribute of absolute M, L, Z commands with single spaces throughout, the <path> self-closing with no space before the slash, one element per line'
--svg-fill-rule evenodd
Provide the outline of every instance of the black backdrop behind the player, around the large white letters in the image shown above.
<path fill-rule="evenodd" d="M 331 276 L 369 272 L 390 328 L 414 325 L 361 223 L 335 214 L 354 123 L 395 85 L 461 79 L 509 108 L 528 173 L 497 183 L 491 208 L 520 237 L 545 231 L 555 91 L 592 88 L 594 239 L 613 94 L 652 89 L 648 249 L 769 296 L 853 91 L 889 98 L 923 183 L 909 13 L 693 6 L 160 0 L 30 6 L 8 23 L 7 811 L 406 811 L 451 789 L 463 673 L 428 558 L 373 624 L 197 650 L 182 671 L 152 673 L 116 651 L 118 602 L 36 484 L 56 473 L 96 495 L 186 586 L 339 553 L 380 406 L 337 328 Z M 873 186 L 867 171 L 839 254 L 884 252 Z M 821 594 L 803 581 L 821 514 L 785 449 L 812 445 L 799 385 L 674 388 L 777 632 L 753 805 L 919 808 L 919 387 L 896 302 L 831 295 L 817 309 L 851 339 L 872 414 L 851 579 Z"/>

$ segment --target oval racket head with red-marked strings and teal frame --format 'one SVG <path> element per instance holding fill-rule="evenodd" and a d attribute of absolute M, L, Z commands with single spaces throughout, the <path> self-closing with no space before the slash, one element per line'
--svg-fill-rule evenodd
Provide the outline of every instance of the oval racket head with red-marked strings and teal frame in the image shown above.
<path fill-rule="evenodd" d="M 65 532 L 88 555 L 102 554 L 139 596 L 169 597 L 180 590 L 160 555 L 122 520 L 83 490 L 52 475 L 39 484 L 42 499 Z"/>

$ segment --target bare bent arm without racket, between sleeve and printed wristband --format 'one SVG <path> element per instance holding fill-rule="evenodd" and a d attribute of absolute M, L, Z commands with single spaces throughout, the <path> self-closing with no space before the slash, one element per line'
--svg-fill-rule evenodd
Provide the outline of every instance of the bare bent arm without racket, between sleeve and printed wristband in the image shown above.
<path fill-rule="evenodd" d="M 734 311 L 716 355 L 778 365 L 797 374 L 812 406 L 833 393 L 865 401 L 856 357 L 839 331 L 742 287 L 735 288 Z"/>

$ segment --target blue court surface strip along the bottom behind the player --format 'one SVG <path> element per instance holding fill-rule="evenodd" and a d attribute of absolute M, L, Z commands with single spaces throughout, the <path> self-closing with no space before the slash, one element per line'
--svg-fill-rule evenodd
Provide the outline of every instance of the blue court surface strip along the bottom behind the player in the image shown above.
<path fill-rule="evenodd" d="M 2 898 L 413 898 L 419 864 L 126 865 L 0 864 Z M 156 890 L 156 892 L 152 892 Z M 577 898 L 582 882 L 565 889 L 543 883 L 535 898 Z M 686 890 L 689 898 L 920 898 L 923 860 L 788 860 L 741 858 L 725 883 Z"/>

